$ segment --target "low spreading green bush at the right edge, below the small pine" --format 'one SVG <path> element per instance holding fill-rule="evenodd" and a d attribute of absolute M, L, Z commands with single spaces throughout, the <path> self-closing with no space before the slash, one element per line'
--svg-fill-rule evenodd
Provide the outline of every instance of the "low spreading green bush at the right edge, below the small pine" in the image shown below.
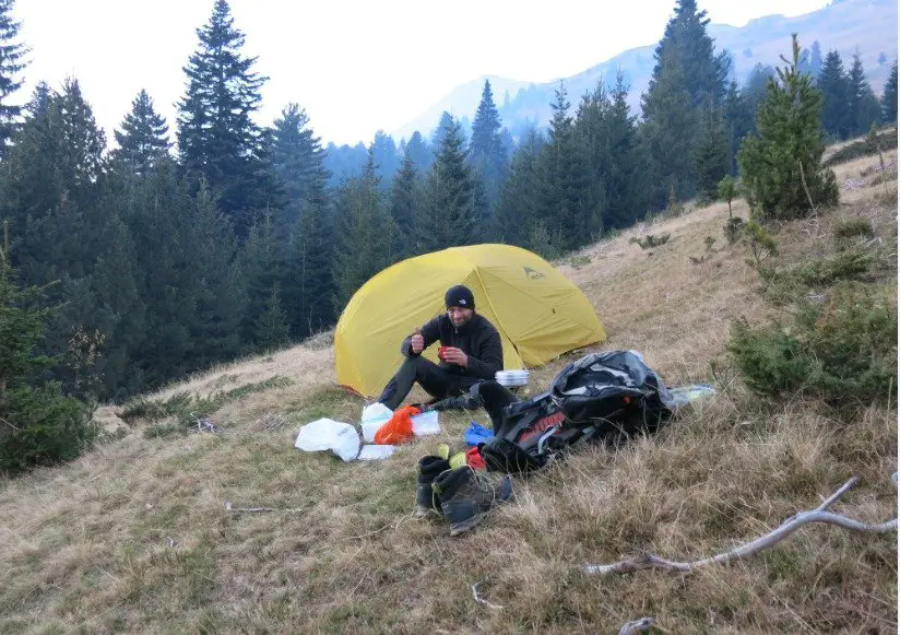
<path fill-rule="evenodd" d="M 804 391 L 836 405 L 890 399 L 897 388 L 897 311 L 856 286 L 804 304 L 792 328 L 733 325 L 727 344 L 747 386 L 775 397 Z"/>

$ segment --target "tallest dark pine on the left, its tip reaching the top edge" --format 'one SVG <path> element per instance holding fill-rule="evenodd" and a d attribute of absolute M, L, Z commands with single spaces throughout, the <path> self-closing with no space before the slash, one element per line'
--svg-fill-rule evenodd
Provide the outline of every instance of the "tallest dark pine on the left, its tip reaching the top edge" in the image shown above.
<path fill-rule="evenodd" d="M 251 118 L 268 78 L 250 70 L 256 58 L 241 55 L 244 34 L 226 0 L 216 0 L 197 35 L 200 47 L 183 69 L 188 86 L 178 103 L 178 149 L 188 174 L 205 179 L 238 235 L 246 236 L 253 211 L 276 202 L 265 136 Z"/>

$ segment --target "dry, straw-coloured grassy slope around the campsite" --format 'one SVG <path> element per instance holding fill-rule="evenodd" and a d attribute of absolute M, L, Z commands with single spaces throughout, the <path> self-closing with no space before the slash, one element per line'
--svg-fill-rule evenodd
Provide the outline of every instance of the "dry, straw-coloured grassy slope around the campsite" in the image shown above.
<path fill-rule="evenodd" d="M 840 166 L 839 181 L 871 184 L 861 172 L 876 163 Z M 896 259 L 896 197 L 879 200 L 885 187 L 897 184 L 846 191 L 839 210 L 783 226 L 782 258 L 833 251 L 829 227 L 862 215 Z M 293 380 L 214 413 L 227 434 L 151 439 L 138 424 L 69 466 L 0 483 L 0 632 L 595 633 L 643 615 L 673 633 L 896 632 L 893 533 L 816 525 L 690 576 L 581 573 L 641 550 L 690 560 L 734 546 L 815 507 L 853 474 L 862 482 L 836 510 L 866 521 L 896 514 L 895 408 L 839 423 L 801 398 L 767 408 L 726 366 L 711 373 L 732 319 L 777 315 L 755 292 L 745 250 L 722 244 L 726 213 L 715 204 L 658 221 L 560 264 L 602 316 L 604 348 L 642 351 L 670 385 L 715 381 L 717 399 L 658 436 L 519 479 L 514 504 L 450 539 L 440 522 L 410 515 L 415 463 L 441 440 L 461 445 L 465 416 L 442 414 L 440 438 L 382 462 L 293 448 L 300 423 L 356 421 L 362 407 L 332 387 L 332 351 L 320 338 L 151 396 Z M 746 208 L 738 202 L 735 213 Z M 663 232 L 672 239 L 652 255 L 628 242 Z M 715 251 L 691 262 L 707 235 Z M 896 267 L 881 280 L 893 289 Z M 569 358 L 533 371 L 532 385 L 545 386 Z M 98 419 L 121 425 L 111 408 Z M 226 501 L 281 511 L 228 513 Z M 474 601 L 478 581 L 502 608 Z"/>

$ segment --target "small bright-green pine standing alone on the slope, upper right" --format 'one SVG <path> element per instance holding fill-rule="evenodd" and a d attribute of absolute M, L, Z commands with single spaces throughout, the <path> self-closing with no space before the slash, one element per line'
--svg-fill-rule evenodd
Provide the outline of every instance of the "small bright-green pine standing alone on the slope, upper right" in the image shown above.
<path fill-rule="evenodd" d="M 810 198 L 814 205 L 838 202 L 834 173 L 821 167 L 821 93 L 800 72 L 796 34 L 793 58 L 784 61 L 788 66 L 778 69 L 759 109 L 758 137 L 745 139 L 738 155 L 747 200 L 761 219 L 813 213 Z"/>

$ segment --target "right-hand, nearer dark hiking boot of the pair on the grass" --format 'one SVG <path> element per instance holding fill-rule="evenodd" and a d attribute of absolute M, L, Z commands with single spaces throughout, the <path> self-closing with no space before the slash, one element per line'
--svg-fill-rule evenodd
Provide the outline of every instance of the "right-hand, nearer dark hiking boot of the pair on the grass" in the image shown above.
<path fill-rule="evenodd" d="M 512 496 L 512 480 L 504 477 L 497 486 L 470 467 L 442 472 L 434 483 L 440 508 L 450 522 L 450 536 L 458 536 L 482 521 L 495 502 Z"/>

